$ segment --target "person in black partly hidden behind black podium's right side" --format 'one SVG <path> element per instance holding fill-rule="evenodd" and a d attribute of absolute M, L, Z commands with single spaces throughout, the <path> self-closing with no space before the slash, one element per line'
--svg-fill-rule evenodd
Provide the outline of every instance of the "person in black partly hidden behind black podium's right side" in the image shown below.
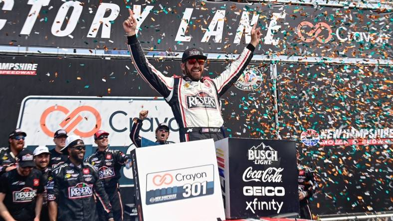
<path fill-rule="evenodd" d="M 317 188 L 317 183 L 314 179 L 314 172 L 311 168 L 301 165 L 299 162 L 300 154 L 299 150 L 296 150 L 297 157 L 297 169 L 298 175 L 298 187 L 299 187 L 299 201 L 300 201 L 300 218 L 306 220 L 312 220 L 313 216 L 309 204 L 309 199 L 312 198 Z"/>

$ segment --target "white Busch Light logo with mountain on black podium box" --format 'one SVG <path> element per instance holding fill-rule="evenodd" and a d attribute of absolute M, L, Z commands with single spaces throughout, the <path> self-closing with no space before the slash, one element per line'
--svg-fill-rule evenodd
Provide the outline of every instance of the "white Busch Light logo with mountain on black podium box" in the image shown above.
<path fill-rule="evenodd" d="M 252 146 L 248 150 L 248 160 L 254 161 L 254 164 L 271 165 L 272 161 L 278 160 L 277 151 L 263 142 L 257 147 Z"/>

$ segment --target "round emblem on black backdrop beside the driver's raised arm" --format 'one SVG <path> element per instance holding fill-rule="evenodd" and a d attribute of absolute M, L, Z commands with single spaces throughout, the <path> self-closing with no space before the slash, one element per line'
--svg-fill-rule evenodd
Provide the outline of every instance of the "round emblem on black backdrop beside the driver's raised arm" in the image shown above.
<path fill-rule="evenodd" d="M 256 90 L 262 85 L 262 73 L 256 67 L 247 67 L 234 85 L 242 91 Z"/>

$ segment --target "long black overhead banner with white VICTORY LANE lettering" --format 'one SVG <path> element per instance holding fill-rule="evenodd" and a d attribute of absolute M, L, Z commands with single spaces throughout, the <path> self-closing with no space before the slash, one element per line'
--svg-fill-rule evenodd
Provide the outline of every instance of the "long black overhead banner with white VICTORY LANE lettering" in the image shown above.
<path fill-rule="evenodd" d="M 391 57 L 391 11 L 238 2 L 5 1 L 1 44 L 126 49 L 122 23 L 134 10 L 144 48 L 239 53 L 262 28 L 258 54 Z M 323 9 L 323 10 L 322 10 Z M 171 23 L 171 25 L 167 25 Z"/>

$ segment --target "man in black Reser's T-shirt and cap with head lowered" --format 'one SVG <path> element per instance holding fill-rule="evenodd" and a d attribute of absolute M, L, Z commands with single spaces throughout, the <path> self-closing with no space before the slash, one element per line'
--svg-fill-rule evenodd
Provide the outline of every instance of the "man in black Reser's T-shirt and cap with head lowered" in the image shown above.
<path fill-rule="evenodd" d="M 0 177 L 0 217 L 6 221 L 39 221 L 44 181 L 34 169 L 33 153 L 23 149 L 16 169 Z"/>

